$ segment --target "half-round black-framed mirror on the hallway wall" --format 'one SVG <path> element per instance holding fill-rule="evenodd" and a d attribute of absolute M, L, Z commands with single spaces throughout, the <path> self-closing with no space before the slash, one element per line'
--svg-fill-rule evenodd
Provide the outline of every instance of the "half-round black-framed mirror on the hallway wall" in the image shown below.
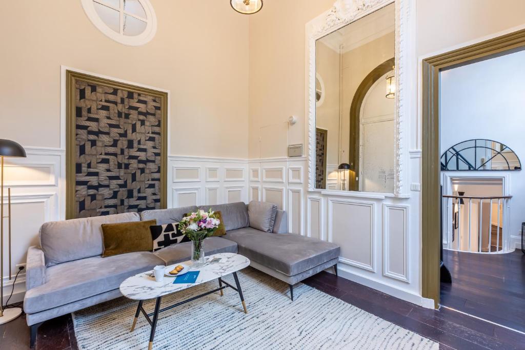
<path fill-rule="evenodd" d="M 455 144 L 441 156 L 442 171 L 521 170 L 518 155 L 501 142 L 476 139 Z"/>

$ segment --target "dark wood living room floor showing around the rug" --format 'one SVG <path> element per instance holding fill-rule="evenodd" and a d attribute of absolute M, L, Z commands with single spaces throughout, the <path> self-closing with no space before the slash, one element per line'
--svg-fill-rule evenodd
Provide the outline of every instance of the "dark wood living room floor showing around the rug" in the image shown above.
<path fill-rule="evenodd" d="M 525 335 L 455 311 L 424 309 L 328 272 L 318 273 L 304 283 L 439 342 L 443 350 L 525 348 Z M 29 329 L 23 317 L 0 325 L 0 348 L 29 348 Z M 70 315 L 40 326 L 37 350 L 77 348 Z"/>

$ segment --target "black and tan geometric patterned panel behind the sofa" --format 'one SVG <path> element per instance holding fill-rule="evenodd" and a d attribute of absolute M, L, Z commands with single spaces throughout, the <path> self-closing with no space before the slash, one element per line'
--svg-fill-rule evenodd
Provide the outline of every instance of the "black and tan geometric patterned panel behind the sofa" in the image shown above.
<path fill-rule="evenodd" d="M 161 98 L 81 79 L 74 85 L 72 216 L 160 209 Z"/>

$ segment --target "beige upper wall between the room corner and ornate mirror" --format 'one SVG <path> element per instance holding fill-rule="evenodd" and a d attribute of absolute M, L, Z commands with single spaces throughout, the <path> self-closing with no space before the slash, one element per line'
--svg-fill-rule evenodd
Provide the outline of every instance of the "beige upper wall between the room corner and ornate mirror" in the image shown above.
<path fill-rule="evenodd" d="M 329 9 L 334 0 L 265 0 L 262 10 L 250 17 L 249 156 L 285 156 L 278 149 L 262 150 L 260 128 L 285 123 L 290 115 L 298 122 L 288 129 L 288 143 L 304 143 L 304 45 L 305 25 Z M 267 143 L 264 143 L 265 145 Z"/>

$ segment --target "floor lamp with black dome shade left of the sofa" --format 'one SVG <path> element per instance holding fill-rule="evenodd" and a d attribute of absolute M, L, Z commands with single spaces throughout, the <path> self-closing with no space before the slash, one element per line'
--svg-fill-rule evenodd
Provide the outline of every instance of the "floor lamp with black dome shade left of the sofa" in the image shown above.
<path fill-rule="evenodd" d="M 8 218 L 9 279 L 11 279 L 11 189 L 7 189 L 7 216 L 4 216 L 4 157 L 25 157 L 24 147 L 10 140 L 0 139 L 0 158 L 2 158 L 0 185 L 0 324 L 16 319 L 22 309 L 4 308 L 4 219 Z"/>

